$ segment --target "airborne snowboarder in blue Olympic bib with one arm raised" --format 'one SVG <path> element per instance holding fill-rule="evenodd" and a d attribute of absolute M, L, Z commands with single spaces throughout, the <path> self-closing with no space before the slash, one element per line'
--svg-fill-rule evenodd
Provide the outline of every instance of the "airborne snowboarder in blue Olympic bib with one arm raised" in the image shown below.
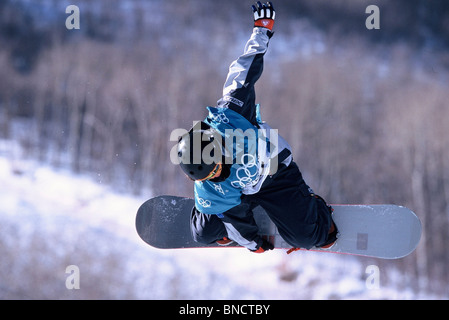
<path fill-rule="evenodd" d="M 195 181 L 192 235 L 206 244 L 235 241 L 252 252 L 271 250 L 252 214 L 260 205 L 291 246 L 329 248 L 338 233 L 332 208 L 305 183 L 288 143 L 260 120 L 254 85 L 273 36 L 275 10 L 259 1 L 252 10 L 253 32 L 229 68 L 223 97 L 177 145 L 180 167 Z"/>

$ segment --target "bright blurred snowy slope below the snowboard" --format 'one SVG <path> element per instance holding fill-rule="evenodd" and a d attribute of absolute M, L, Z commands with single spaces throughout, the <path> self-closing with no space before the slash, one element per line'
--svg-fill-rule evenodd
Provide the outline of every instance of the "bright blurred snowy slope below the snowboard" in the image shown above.
<path fill-rule="evenodd" d="M 1 148 L 0 181 L 0 299 L 434 298 L 408 289 L 399 272 L 381 270 L 380 288 L 367 288 L 369 259 L 153 249 L 134 230 L 145 199 L 117 194 L 101 177 L 13 161 Z M 78 290 L 65 286 L 69 265 L 79 267 Z"/>

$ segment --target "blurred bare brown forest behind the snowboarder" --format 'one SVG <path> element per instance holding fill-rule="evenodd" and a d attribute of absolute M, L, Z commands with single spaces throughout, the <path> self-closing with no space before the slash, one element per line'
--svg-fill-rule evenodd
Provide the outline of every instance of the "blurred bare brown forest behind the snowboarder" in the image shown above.
<path fill-rule="evenodd" d="M 65 8 L 80 9 L 67 30 Z M 206 116 L 251 33 L 251 1 L 0 2 L 0 138 L 121 192 L 192 196 L 170 133 Z M 278 0 L 262 116 L 331 203 L 393 203 L 424 227 L 401 260 L 449 283 L 449 3 Z M 380 29 L 368 30 L 368 5 Z M 19 155 L 18 155 L 19 157 Z M 382 262 L 379 261 L 381 265 Z"/>

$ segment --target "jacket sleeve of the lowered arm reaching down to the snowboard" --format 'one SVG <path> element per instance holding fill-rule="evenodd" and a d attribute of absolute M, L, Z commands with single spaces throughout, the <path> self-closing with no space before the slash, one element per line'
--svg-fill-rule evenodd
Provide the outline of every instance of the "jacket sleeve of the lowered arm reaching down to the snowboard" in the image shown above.
<path fill-rule="evenodd" d="M 259 227 L 248 203 L 242 202 L 224 212 L 220 218 L 231 240 L 252 251 L 262 245 L 262 238 L 258 234 Z"/>

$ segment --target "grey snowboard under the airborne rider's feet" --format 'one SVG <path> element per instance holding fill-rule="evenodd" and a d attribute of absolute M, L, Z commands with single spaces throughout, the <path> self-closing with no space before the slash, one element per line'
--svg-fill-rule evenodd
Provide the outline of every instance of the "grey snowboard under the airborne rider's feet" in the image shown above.
<path fill-rule="evenodd" d="M 220 247 L 193 240 L 190 231 L 193 206 L 194 200 L 190 198 L 167 195 L 152 198 L 137 211 L 137 233 L 147 244 L 159 249 Z M 339 229 L 338 240 L 330 250 L 312 248 L 311 251 L 398 259 L 412 253 L 421 238 L 419 218 L 405 207 L 388 204 L 332 207 L 333 219 Z M 260 206 L 253 213 L 261 236 L 275 248 L 291 248 Z M 220 248 L 229 247 L 232 246 Z"/>

